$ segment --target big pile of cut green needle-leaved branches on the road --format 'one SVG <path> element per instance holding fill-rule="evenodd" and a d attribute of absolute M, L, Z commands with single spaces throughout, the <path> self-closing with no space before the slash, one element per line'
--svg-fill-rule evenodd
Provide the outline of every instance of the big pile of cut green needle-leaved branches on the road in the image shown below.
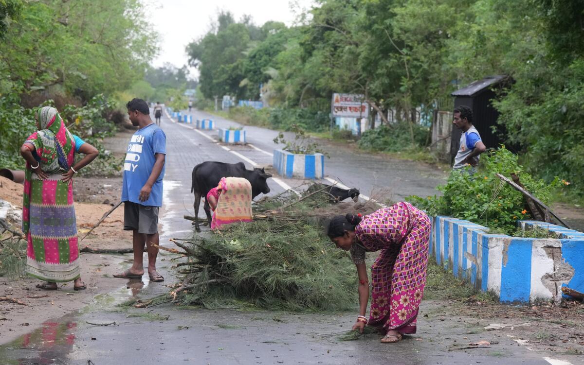
<path fill-rule="evenodd" d="M 206 308 L 354 308 L 354 265 L 347 252 L 331 244 L 324 223 L 333 215 L 367 214 L 378 206 L 329 200 L 324 192 L 288 191 L 254 203 L 253 222 L 172 240 L 179 249 L 166 250 L 187 258 L 175 266 L 182 283 L 169 293 L 172 301 Z"/>

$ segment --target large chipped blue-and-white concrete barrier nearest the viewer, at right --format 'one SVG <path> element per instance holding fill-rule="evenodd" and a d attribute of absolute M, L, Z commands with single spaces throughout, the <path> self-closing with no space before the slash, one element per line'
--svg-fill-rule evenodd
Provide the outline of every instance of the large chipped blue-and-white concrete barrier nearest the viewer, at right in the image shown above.
<path fill-rule="evenodd" d="M 566 285 L 584 292 L 584 233 L 538 221 L 520 225 L 545 227 L 559 238 L 489 234 L 479 224 L 437 216 L 430 252 L 454 276 L 495 293 L 502 302 L 549 300 Z"/>

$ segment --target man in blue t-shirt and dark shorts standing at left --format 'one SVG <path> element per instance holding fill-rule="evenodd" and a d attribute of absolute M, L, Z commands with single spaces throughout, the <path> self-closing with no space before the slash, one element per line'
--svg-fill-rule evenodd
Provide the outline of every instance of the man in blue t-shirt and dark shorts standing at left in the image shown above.
<path fill-rule="evenodd" d="M 162 178 L 166 156 L 166 135 L 150 119 L 148 104 L 132 99 L 126 104 L 130 121 L 138 131 L 128 143 L 121 201 L 124 202 L 124 230 L 131 230 L 134 264 L 114 278 L 141 278 L 144 275 L 142 255 L 148 248 L 148 276 L 152 282 L 164 278 L 156 271 L 158 208 L 162 206 Z"/>

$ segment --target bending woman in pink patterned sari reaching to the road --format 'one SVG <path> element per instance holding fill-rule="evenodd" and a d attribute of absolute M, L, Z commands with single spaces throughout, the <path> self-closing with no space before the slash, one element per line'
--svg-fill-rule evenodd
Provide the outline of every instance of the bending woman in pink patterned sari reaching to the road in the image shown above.
<path fill-rule="evenodd" d="M 403 334 L 416 333 L 416 317 L 426 285 L 426 265 L 430 219 L 409 203 L 361 217 L 347 214 L 334 217 L 328 236 L 338 248 L 350 251 L 359 275 L 360 313 L 353 329 L 380 326 L 386 335 L 381 342 L 393 343 Z M 365 252 L 378 251 L 371 266 L 371 313 L 365 317 L 369 301 L 369 280 Z"/>

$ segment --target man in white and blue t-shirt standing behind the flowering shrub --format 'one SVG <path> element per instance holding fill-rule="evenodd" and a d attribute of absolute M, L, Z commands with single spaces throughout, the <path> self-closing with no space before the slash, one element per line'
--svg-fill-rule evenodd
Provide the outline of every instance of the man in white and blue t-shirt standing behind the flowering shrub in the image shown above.
<path fill-rule="evenodd" d="M 456 128 L 461 129 L 463 134 L 460 136 L 460 148 L 454 157 L 454 170 L 463 169 L 470 166 L 468 173 L 477 172 L 479 155 L 485 152 L 485 144 L 481 141 L 481 135 L 478 134 L 477 128 L 472 125 L 472 110 L 467 106 L 460 106 L 454 109 L 453 124 Z"/>

